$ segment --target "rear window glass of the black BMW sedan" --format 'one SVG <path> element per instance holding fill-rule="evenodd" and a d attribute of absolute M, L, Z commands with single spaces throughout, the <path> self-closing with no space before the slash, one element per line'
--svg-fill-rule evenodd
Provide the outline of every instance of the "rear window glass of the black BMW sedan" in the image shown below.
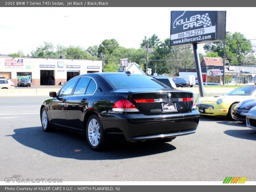
<path fill-rule="evenodd" d="M 170 86 L 146 75 L 106 75 L 106 81 L 116 89 L 157 88 L 170 89 Z"/>

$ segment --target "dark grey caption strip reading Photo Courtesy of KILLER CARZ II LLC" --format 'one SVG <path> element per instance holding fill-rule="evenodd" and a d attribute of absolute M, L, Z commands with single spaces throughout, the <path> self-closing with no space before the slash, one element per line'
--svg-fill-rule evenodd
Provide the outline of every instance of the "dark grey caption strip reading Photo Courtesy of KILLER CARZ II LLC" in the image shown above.
<path fill-rule="evenodd" d="M 223 186 L 225 185 L 225 186 Z M 169 191 L 208 191 L 208 192 L 216 192 L 216 191 L 232 191 L 232 192 L 241 192 L 243 191 L 253 191 L 254 186 L 250 185 L 230 185 L 223 184 L 222 186 L 214 185 L 214 186 L 195 186 L 195 185 L 183 185 L 183 186 L 175 186 L 175 185 L 149 185 L 149 186 L 135 186 L 135 185 L 72 185 L 72 186 L 60 186 L 60 185 L 48 185 L 48 186 L 1 186 L 0 190 L 2 192 L 60 192 L 60 191 L 70 191 L 70 192 L 169 192 Z M 229 186 L 228 186 L 229 185 Z"/>

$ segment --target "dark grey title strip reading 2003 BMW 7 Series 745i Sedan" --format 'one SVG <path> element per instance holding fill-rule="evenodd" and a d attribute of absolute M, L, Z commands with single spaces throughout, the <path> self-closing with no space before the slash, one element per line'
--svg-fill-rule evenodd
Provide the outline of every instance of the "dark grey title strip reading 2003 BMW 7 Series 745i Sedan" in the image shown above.
<path fill-rule="evenodd" d="M 1 7 L 252 7 L 256 2 L 251 0 L 243 1 L 205 1 L 205 0 L 183 0 L 183 1 L 166 1 L 166 0 L 101 0 L 101 1 L 70 1 L 70 0 L 5 0 L 0 1 Z"/>

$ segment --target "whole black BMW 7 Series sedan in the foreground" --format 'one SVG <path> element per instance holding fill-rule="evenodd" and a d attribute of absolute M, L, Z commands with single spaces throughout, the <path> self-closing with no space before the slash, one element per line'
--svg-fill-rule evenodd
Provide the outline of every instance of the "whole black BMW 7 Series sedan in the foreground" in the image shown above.
<path fill-rule="evenodd" d="M 193 93 L 145 75 L 91 73 L 70 79 L 42 103 L 44 131 L 85 134 L 94 150 L 109 139 L 160 140 L 196 132 L 200 114 Z"/>

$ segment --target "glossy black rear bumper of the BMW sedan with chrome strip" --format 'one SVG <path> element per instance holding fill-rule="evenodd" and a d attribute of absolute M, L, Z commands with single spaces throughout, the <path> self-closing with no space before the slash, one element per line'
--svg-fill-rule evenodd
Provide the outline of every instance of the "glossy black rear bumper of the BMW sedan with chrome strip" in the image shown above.
<path fill-rule="evenodd" d="M 100 114 L 104 132 L 123 135 L 126 140 L 169 138 L 194 133 L 200 114 L 193 110 L 180 114 Z"/>

